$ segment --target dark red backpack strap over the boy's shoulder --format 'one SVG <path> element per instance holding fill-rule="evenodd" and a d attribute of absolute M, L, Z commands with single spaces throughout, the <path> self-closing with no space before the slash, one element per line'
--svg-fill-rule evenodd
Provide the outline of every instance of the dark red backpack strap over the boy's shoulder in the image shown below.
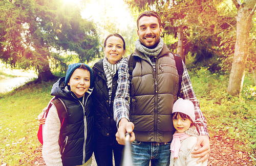
<path fill-rule="evenodd" d="M 61 133 L 63 132 L 63 130 L 66 127 L 67 121 L 68 121 L 68 113 L 67 113 L 67 108 L 66 105 L 64 104 L 64 102 L 60 99 L 60 98 L 56 98 L 51 102 L 51 104 L 54 104 L 57 112 L 58 112 L 58 117 L 60 120 L 60 134 L 59 134 L 59 146 L 61 147 L 61 145 L 63 144 L 64 140 L 61 136 Z"/>

